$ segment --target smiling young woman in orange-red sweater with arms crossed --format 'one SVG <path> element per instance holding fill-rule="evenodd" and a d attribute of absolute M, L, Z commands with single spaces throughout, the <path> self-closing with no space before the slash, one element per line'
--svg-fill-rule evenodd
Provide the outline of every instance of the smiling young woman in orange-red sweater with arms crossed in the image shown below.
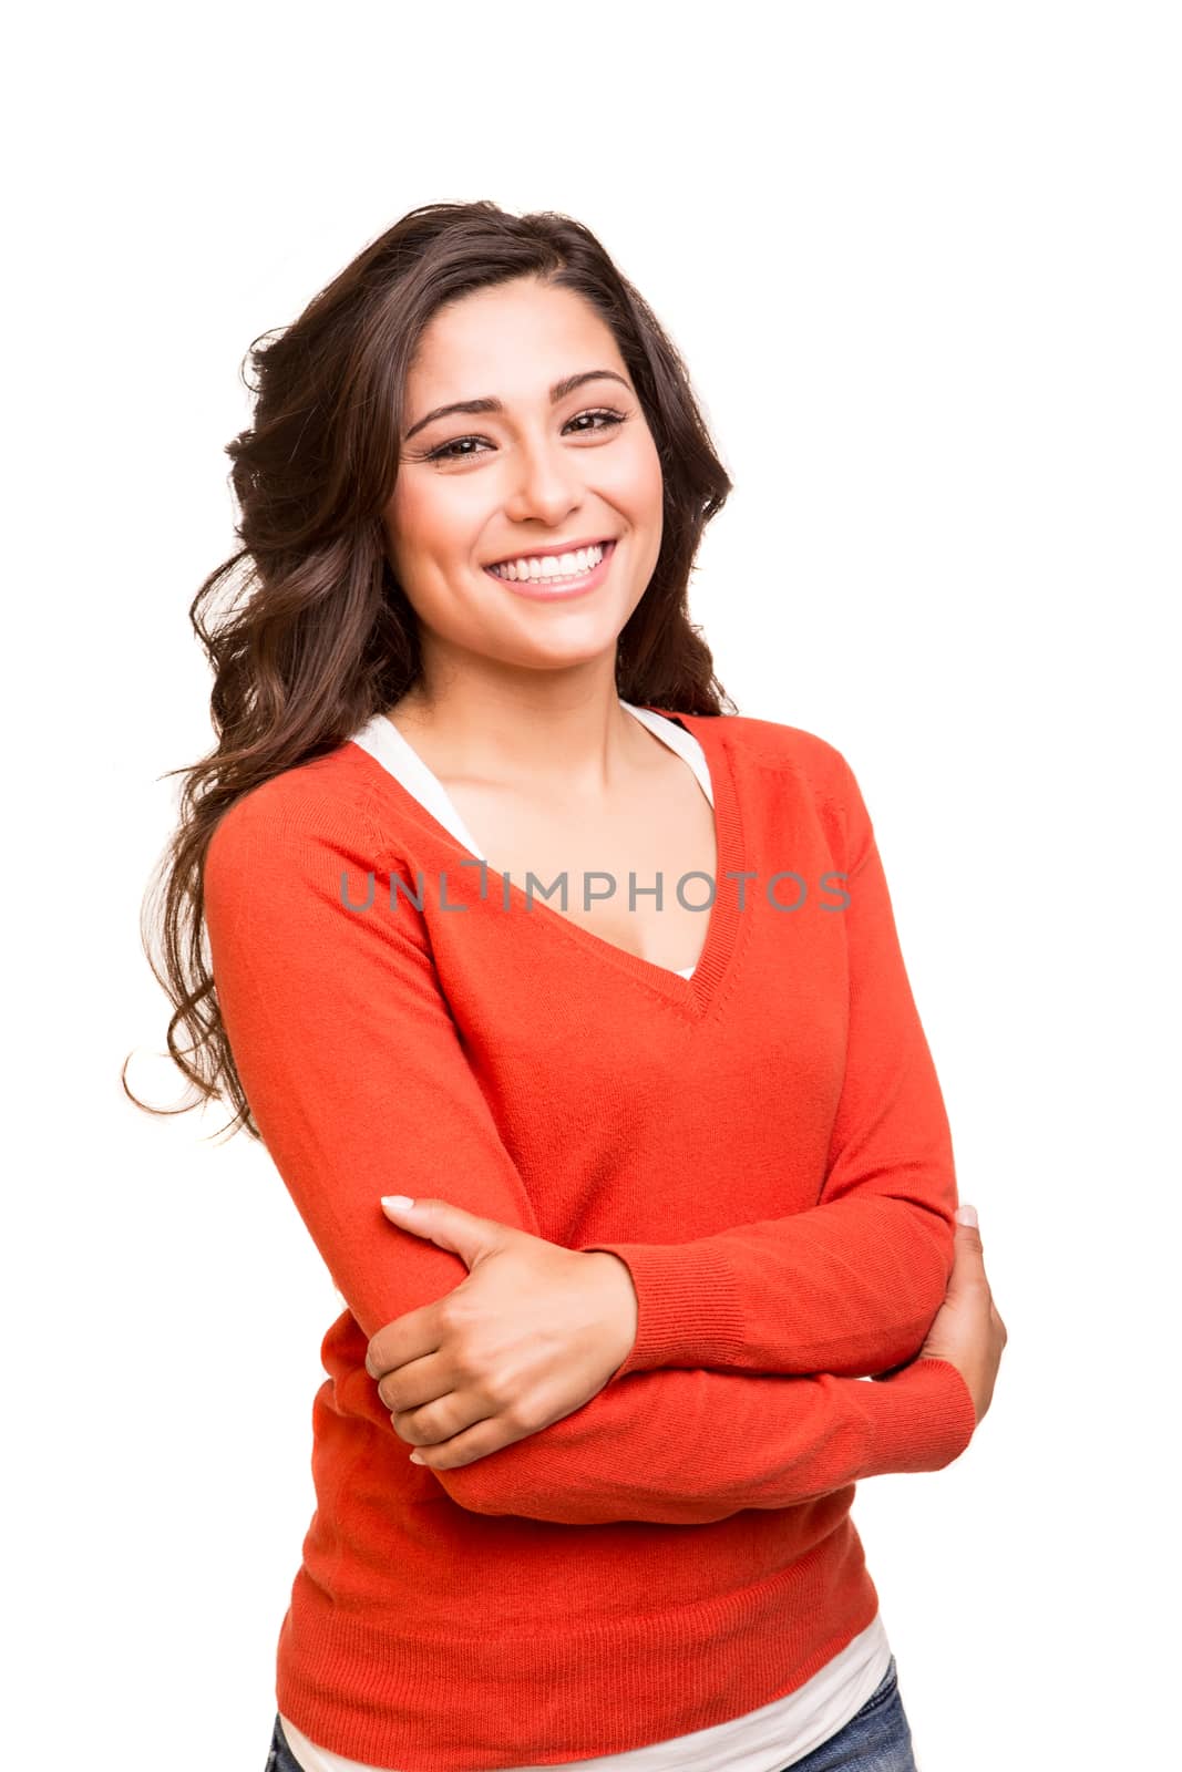
<path fill-rule="evenodd" d="M 253 363 L 158 973 L 346 1302 L 268 1765 L 913 1767 L 854 1485 L 1005 1327 L 856 778 L 689 622 L 677 351 L 438 204 Z"/>

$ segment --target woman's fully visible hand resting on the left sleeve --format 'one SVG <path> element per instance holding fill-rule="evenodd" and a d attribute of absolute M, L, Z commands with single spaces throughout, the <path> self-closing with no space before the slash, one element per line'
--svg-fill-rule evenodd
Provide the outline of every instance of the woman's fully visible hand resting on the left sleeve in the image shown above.
<path fill-rule="evenodd" d="M 603 1391 L 636 1340 L 633 1276 L 606 1249 L 564 1249 L 447 1200 L 383 1212 L 470 1269 L 379 1329 L 365 1354 L 393 1430 L 434 1471 L 528 1439 Z"/>

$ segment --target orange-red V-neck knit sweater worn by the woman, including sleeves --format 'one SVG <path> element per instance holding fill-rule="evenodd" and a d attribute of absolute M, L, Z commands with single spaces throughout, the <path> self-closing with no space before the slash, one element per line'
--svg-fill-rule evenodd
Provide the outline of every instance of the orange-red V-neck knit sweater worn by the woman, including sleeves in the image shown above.
<path fill-rule="evenodd" d="M 792 727 L 673 718 L 718 831 L 691 978 L 463 867 L 353 742 L 246 794 L 209 847 L 234 1058 L 347 1304 L 276 1699 L 353 1760 L 556 1765 L 796 1690 L 877 1611 L 854 1483 L 939 1471 L 975 1428 L 957 1368 L 913 1361 L 957 1189 L 854 776 Z M 599 1396 L 413 1465 L 367 1341 L 468 1271 L 386 1193 L 618 1255 L 638 1334 Z"/>

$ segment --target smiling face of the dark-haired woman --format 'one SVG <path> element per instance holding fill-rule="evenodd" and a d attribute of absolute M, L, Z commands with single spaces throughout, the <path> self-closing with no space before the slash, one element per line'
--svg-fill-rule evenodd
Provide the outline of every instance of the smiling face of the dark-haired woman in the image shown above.
<path fill-rule="evenodd" d="M 576 376 L 588 379 L 551 400 L 555 385 Z M 461 400 L 498 409 L 427 418 Z M 438 312 L 408 376 L 399 473 L 383 512 L 427 673 L 445 656 L 526 670 L 606 656 L 615 680 L 617 636 L 661 551 L 661 493 L 624 360 L 581 296 L 528 276 Z M 567 595 L 526 595 L 548 581 L 514 588 L 487 571 L 608 540 L 606 563 Z"/>

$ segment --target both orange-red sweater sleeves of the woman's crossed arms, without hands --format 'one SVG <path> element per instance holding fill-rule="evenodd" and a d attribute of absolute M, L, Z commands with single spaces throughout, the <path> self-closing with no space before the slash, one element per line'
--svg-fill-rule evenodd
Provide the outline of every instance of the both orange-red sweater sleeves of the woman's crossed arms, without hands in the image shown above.
<path fill-rule="evenodd" d="M 379 1207 L 392 1177 L 415 1194 L 434 1191 L 416 1177 L 448 1175 L 455 1205 L 539 1226 L 425 941 L 413 923 L 342 911 L 340 872 L 374 867 L 372 829 L 328 799 L 292 817 L 287 794 L 268 783 L 214 833 L 213 973 L 259 1131 L 372 1338 L 466 1272 L 392 1230 Z M 941 1469 L 968 1444 L 973 1403 L 950 1363 L 916 1361 L 881 1384 L 858 1377 L 918 1352 L 952 1269 L 955 1184 L 868 822 L 851 897 L 851 1047 L 820 1203 L 691 1244 L 595 1244 L 636 1285 L 627 1359 L 576 1414 L 432 1473 L 459 1506 L 700 1524 Z M 872 1033 L 891 1012 L 886 1051 Z M 930 1129 L 920 1146 L 918 1104 Z M 705 1370 L 719 1366 L 732 1370 Z"/>

